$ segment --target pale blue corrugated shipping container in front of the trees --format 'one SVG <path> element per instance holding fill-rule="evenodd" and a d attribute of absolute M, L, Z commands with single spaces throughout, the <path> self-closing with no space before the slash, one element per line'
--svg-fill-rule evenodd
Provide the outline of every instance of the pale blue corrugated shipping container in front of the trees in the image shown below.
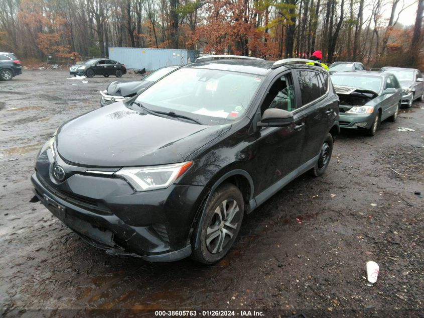
<path fill-rule="evenodd" d="M 125 64 L 126 68 L 156 70 L 168 65 L 183 65 L 194 62 L 199 51 L 109 47 L 109 58 Z"/>

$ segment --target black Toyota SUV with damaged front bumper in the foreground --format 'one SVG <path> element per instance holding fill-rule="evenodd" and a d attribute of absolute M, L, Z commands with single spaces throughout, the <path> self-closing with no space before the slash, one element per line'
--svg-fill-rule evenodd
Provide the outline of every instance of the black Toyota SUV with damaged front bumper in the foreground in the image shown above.
<path fill-rule="evenodd" d="M 37 156 L 32 201 L 109 254 L 219 261 L 244 215 L 329 164 L 338 97 L 306 62 L 201 57 L 63 124 Z"/>

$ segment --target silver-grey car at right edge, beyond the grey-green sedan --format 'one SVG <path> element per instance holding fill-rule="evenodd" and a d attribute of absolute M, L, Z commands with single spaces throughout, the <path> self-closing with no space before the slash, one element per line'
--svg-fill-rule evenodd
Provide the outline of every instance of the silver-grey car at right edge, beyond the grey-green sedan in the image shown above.
<path fill-rule="evenodd" d="M 407 108 L 412 107 L 412 102 L 415 99 L 422 101 L 424 98 L 424 79 L 419 70 L 415 68 L 402 67 L 382 67 L 382 72 L 390 72 L 396 76 L 402 87 L 402 105 Z"/>

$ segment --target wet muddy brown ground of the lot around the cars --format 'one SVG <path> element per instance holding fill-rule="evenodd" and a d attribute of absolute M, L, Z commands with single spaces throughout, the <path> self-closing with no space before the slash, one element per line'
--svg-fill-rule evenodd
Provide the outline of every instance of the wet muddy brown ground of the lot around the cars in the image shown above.
<path fill-rule="evenodd" d="M 396 123 L 383 122 L 375 137 L 343 133 L 326 174 L 299 177 L 247 216 L 219 264 L 150 264 L 107 256 L 43 205 L 28 202 L 38 149 L 61 123 L 98 108 L 98 91 L 115 80 L 84 84 L 67 77 L 34 70 L 0 82 L 3 314 L 192 308 L 282 317 L 422 314 L 424 199 L 414 192 L 424 192 L 424 103 L 403 110 Z M 138 77 L 123 77 L 131 78 Z M 380 266 L 372 286 L 368 260 Z"/>

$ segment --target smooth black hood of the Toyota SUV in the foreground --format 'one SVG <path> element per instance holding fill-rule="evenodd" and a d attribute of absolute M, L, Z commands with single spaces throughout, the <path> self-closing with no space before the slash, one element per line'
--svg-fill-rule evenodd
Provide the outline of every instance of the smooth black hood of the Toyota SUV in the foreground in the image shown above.
<path fill-rule="evenodd" d="M 184 162 L 194 151 L 231 128 L 204 126 L 140 113 L 116 102 L 65 123 L 56 146 L 81 166 L 123 167 Z"/>

